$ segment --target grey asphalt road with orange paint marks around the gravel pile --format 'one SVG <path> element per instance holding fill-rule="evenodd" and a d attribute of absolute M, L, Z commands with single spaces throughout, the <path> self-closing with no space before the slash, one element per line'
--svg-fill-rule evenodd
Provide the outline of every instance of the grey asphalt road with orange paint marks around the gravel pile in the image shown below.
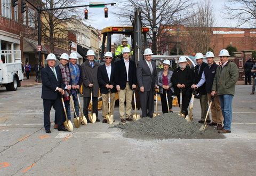
<path fill-rule="evenodd" d="M 124 138 L 121 130 L 101 122 L 74 126 L 73 132 L 54 130 L 52 124 L 52 133 L 47 134 L 41 89 L 0 89 L 0 175 L 255 175 L 252 86 L 236 86 L 232 129 L 225 139 L 151 141 Z M 173 111 L 179 113 L 179 108 Z M 198 121 L 198 99 L 193 113 Z M 118 106 L 114 116 L 114 124 L 121 122 Z M 99 118 L 102 121 L 101 111 Z"/>

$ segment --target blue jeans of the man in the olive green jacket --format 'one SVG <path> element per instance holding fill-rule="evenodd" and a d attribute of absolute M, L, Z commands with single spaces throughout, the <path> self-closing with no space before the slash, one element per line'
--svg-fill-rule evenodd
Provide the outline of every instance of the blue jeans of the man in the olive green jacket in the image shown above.
<path fill-rule="evenodd" d="M 231 130 L 231 121 L 232 121 L 233 95 L 223 94 L 223 95 L 219 95 L 219 98 L 220 98 L 221 111 L 222 111 L 222 115 L 224 118 L 223 129 L 230 131 Z"/>

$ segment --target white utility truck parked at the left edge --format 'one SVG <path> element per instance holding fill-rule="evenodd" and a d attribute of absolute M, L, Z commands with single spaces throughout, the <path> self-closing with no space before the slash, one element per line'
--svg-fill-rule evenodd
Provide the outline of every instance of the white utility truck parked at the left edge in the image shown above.
<path fill-rule="evenodd" d="M 0 50 L 0 85 L 7 91 L 16 91 L 23 81 L 21 51 Z"/>

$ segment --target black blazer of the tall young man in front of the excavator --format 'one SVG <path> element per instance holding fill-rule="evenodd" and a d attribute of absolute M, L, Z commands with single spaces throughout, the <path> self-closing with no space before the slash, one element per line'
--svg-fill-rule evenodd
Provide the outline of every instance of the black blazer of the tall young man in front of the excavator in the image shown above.
<path fill-rule="evenodd" d="M 128 79 L 130 84 L 130 89 L 132 89 L 133 84 L 137 84 L 136 78 L 136 64 L 134 61 L 129 60 L 129 72 Z M 121 90 L 125 89 L 127 81 L 126 68 L 124 63 L 124 58 L 116 62 L 115 66 L 115 85 L 119 85 Z"/>

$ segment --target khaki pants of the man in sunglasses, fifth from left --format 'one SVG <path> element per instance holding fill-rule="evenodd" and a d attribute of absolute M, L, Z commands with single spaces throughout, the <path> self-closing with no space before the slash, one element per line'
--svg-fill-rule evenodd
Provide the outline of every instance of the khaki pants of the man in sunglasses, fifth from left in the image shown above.
<path fill-rule="evenodd" d="M 103 94 L 102 96 L 102 117 L 106 119 L 106 115 L 109 113 L 109 105 L 108 105 L 108 93 Z M 110 115 L 114 115 L 114 107 L 116 102 L 116 93 L 110 92 Z"/>

